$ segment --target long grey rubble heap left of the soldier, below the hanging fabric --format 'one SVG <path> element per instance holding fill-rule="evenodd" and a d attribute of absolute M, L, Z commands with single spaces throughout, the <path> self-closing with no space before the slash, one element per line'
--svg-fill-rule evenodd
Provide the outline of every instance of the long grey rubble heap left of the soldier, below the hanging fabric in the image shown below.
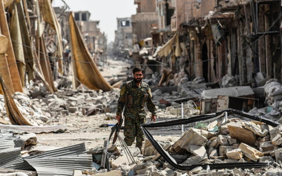
<path fill-rule="evenodd" d="M 14 101 L 23 116 L 35 125 L 48 125 L 56 122 L 62 116 L 75 114 L 79 116 L 94 115 L 100 113 L 115 113 L 119 90 L 112 89 L 109 92 L 87 90 L 62 89 L 55 94 L 40 88 L 28 95 L 16 92 Z M 6 114 L 3 95 L 0 95 L 0 110 L 5 124 L 11 124 Z"/>

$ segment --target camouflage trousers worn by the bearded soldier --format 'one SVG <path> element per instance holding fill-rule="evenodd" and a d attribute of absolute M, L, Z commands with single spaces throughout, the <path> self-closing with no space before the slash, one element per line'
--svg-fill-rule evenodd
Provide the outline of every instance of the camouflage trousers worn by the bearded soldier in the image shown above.
<path fill-rule="evenodd" d="M 135 119 L 125 116 L 124 121 L 124 131 L 125 136 L 124 141 L 127 146 L 131 146 L 136 137 L 136 145 L 141 151 L 142 142 L 145 141 L 145 135 L 143 134 L 140 125 L 146 123 L 146 117 L 137 116 Z"/>

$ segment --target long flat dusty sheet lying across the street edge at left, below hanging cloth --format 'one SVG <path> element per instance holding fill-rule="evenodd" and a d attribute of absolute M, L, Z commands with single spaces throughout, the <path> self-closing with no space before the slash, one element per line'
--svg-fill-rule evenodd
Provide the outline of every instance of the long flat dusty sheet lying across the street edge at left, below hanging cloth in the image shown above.
<path fill-rule="evenodd" d="M 27 125 L 4 125 L 0 124 L 3 132 L 13 131 L 15 133 L 62 133 L 66 131 L 66 125 L 45 125 L 45 126 L 27 126 Z"/>

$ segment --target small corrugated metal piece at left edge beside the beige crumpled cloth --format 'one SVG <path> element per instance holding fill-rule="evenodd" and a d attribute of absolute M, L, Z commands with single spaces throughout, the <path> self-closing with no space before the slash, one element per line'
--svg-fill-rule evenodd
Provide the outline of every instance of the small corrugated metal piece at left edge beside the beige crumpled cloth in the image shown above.
<path fill-rule="evenodd" d="M 20 147 L 19 138 L 12 133 L 0 133 L 0 150 Z"/>

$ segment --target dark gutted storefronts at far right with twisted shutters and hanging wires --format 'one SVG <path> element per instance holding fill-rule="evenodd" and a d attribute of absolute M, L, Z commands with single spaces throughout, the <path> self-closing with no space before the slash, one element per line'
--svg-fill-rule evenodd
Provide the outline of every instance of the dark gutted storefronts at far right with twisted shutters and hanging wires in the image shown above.
<path fill-rule="evenodd" d="M 219 1 L 215 6 L 182 25 L 189 32 L 189 75 L 206 82 L 238 75 L 238 85 L 261 86 L 271 77 L 280 82 L 280 2 Z"/>

